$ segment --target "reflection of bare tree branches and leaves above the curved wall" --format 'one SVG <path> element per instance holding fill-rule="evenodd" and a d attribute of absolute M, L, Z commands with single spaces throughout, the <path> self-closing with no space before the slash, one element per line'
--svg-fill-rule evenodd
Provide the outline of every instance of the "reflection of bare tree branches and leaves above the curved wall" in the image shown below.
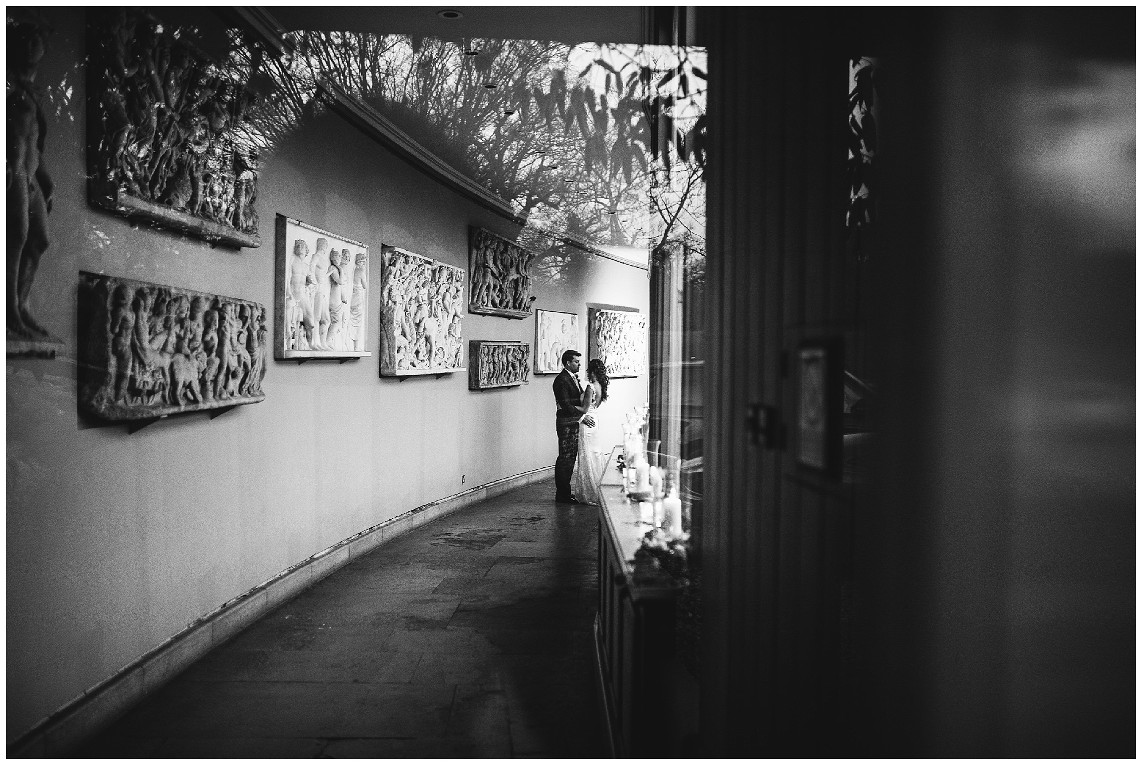
<path fill-rule="evenodd" d="M 667 192 L 659 207 L 678 203 L 674 225 L 705 228 L 703 50 L 301 31 L 289 35 L 292 58 L 263 58 L 234 35 L 235 64 L 267 83 L 254 120 L 265 143 L 319 113 L 316 82 L 328 78 L 537 230 L 653 247 L 664 225 L 650 201 L 656 162 L 671 175 L 697 169 L 695 188 Z M 561 251 L 526 237 L 553 277 L 565 273 Z"/>

